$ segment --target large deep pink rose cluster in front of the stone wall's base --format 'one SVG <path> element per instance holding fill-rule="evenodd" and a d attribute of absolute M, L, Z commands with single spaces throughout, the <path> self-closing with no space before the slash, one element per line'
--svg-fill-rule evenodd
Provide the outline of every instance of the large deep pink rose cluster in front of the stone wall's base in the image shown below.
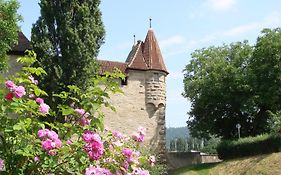
<path fill-rule="evenodd" d="M 82 135 L 86 142 L 84 149 L 91 160 L 98 160 L 103 155 L 104 146 L 100 136 L 92 131 L 85 131 Z"/>

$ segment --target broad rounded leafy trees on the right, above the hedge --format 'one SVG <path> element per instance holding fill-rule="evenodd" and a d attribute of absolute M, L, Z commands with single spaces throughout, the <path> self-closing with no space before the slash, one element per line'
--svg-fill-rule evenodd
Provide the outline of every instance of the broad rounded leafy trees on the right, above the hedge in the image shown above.
<path fill-rule="evenodd" d="M 269 112 L 280 110 L 281 29 L 266 29 L 252 47 L 237 42 L 196 50 L 184 69 L 193 136 L 255 136 L 270 131 Z"/>

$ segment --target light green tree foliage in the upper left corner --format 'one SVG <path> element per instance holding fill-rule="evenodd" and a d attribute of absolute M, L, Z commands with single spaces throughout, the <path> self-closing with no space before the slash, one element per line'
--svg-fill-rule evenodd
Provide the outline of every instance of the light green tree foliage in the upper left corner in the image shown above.
<path fill-rule="evenodd" d="M 17 44 L 21 17 L 17 14 L 17 0 L 0 0 L 0 72 L 7 68 L 7 52 Z"/>

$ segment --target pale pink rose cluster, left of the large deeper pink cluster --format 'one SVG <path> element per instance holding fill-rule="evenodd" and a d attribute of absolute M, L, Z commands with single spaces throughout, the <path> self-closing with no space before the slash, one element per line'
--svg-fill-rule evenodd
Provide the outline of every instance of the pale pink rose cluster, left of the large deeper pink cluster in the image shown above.
<path fill-rule="evenodd" d="M 48 154 L 52 156 L 56 155 L 56 149 L 62 146 L 58 134 L 49 129 L 40 129 L 37 135 L 42 140 L 42 148 L 47 151 Z"/>

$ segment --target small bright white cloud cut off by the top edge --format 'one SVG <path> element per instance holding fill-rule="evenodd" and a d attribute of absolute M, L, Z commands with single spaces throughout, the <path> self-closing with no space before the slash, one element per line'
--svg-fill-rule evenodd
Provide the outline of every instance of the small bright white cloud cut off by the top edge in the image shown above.
<path fill-rule="evenodd" d="M 224 11 L 233 8 L 237 0 L 207 0 L 206 4 L 217 11 Z"/>

